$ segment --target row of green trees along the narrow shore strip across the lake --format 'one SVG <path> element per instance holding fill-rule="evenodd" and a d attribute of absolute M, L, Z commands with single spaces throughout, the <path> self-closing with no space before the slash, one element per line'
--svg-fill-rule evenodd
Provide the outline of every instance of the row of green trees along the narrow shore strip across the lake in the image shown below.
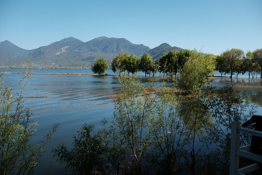
<path fill-rule="evenodd" d="M 184 64 L 194 53 L 197 53 L 197 51 L 187 49 L 174 50 L 164 53 L 159 59 L 153 60 L 148 53 L 144 53 L 139 58 L 133 54 L 129 55 L 128 53 L 120 52 L 113 59 L 112 70 L 118 72 L 119 75 L 124 71 L 128 74 L 143 71 L 145 76 L 147 74 L 154 76 L 157 72 L 163 73 L 163 76 L 177 76 L 178 74 L 180 75 Z M 257 49 L 254 52 L 247 51 L 246 53 L 241 49 L 231 49 L 222 52 L 220 55 L 203 55 L 216 60 L 215 70 L 221 73 L 221 77 L 226 73 L 230 74 L 230 78 L 232 78 L 234 73 L 238 77 L 239 73 L 244 74 L 248 72 L 249 78 L 250 74 L 254 78 L 257 73 L 261 73 L 262 78 L 262 49 Z M 108 62 L 104 58 L 99 58 L 92 66 L 93 72 L 98 74 L 104 73 L 108 68 Z"/>

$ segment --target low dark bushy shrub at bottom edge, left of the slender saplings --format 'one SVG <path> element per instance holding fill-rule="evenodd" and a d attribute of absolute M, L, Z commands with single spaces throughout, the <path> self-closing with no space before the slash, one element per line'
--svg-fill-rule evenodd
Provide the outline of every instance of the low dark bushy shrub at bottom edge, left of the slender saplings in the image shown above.
<path fill-rule="evenodd" d="M 60 163 L 66 163 L 66 168 L 73 168 L 74 174 L 96 175 L 105 174 L 106 145 L 103 144 L 101 133 L 93 132 L 94 125 L 83 124 L 78 135 L 74 136 L 73 148 L 70 150 L 64 143 L 53 148 L 54 156 Z"/>

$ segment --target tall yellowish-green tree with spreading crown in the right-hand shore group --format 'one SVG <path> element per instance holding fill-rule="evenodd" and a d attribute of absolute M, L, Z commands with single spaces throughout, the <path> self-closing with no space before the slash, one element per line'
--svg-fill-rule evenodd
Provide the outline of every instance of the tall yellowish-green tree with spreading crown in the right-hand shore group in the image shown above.
<path fill-rule="evenodd" d="M 241 65 L 241 60 L 244 58 L 244 52 L 241 49 L 231 49 L 222 53 L 225 57 L 225 63 L 227 65 L 226 73 L 230 73 L 230 78 L 234 72 L 236 72 Z"/>

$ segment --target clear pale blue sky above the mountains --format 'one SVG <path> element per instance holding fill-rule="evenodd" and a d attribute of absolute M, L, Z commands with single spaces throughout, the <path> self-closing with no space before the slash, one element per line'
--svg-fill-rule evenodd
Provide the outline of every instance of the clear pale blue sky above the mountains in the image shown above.
<path fill-rule="evenodd" d="M 0 42 L 31 50 L 71 36 L 254 51 L 262 48 L 262 0 L 0 0 Z"/>

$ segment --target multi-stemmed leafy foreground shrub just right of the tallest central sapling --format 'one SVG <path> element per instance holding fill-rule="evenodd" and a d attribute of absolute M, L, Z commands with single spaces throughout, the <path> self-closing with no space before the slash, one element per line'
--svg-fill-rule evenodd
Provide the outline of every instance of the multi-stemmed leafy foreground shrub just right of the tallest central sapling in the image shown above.
<path fill-rule="evenodd" d="M 182 120 L 180 96 L 176 91 L 160 88 L 155 94 L 154 115 L 149 118 L 149 132 L 152 135 L 151 152 L 157 161 L 159 173 L 174 175 L 179 167 L 177 160 L 186 155 L 190 129 L 188 120 Z M 164 158 L 163 158 L 164 157 Z"/>

